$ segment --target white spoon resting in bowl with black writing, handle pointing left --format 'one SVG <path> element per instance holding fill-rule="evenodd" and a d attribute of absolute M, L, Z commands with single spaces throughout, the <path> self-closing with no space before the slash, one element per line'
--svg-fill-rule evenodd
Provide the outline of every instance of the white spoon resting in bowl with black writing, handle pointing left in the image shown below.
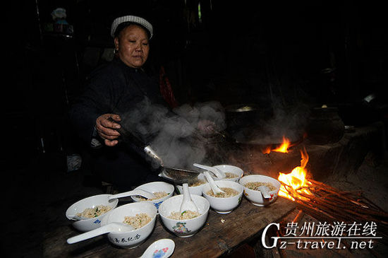
<path fill-rule="evenodd" d="M 126 232 L 135 230 L 132 225 L 119 223 L 119 222 L 111 222 L 107 225 L 102 225 L 100 228 L 96 228 L 94 230 L 87 231 L 80 235 L 76 235 L 73 238 L 68 238 L 68 244 L 73 244 L 75 242 L 80 242 L 83 240 L 87 240 L 89 238 L 97 237 L 97 235 L 106 234 L 112 231 Z"/>

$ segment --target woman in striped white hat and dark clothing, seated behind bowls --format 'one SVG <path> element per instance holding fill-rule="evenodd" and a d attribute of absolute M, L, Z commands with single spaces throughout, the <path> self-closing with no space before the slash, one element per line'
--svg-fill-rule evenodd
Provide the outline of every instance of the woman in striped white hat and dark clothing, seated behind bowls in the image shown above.
<path fill-rule="evenodd" d="M 71 106 L 75 132 L 90 148 L 93 172 L 118 188 L 159 180 L 147 161 L 119 143 L 121 120 L 143 102 L 165 105 L 157 81 L 143 71 L 150 52 L 152 25 L 137 16 L 111 25 L 116 57 L 92 72 L 85 92 Z"/>

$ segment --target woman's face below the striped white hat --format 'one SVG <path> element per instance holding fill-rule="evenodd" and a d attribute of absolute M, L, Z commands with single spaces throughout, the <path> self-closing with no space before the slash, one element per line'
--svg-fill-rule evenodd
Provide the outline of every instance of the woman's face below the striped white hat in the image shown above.
<path fill-rule="evenodd" d="M 121 61 L 127 66 L 140 68 L 147 61 L 150 45 L 147 32 L 138 25 L 123 28 L 119 37 L 114 38 Z"/>

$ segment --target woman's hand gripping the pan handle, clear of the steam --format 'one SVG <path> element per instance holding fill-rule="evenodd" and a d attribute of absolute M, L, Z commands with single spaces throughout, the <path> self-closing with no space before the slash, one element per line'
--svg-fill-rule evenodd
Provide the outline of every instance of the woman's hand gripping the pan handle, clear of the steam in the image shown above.
<path fill-rule="evenodd" d="M 117 138 L 119 138 L 120 134 L 119 131 L 116 131 L 116 129 L 119 129 L 121 126 L 112 120 L 120 122 L 121 117 L 116 114 L 104 114 L 100 115 L 96 119 L 97 134 L 104 139 L 106 146 L 115 146 L 119 143 Z"/>

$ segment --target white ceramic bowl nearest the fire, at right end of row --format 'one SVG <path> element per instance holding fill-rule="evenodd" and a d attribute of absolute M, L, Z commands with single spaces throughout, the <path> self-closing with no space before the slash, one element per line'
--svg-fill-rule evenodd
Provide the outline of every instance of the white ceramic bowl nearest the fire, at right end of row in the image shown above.
<path fill-rule="evenodd" d="M 248 182 L 267 182 L 272 184 L 276 189 L 274 189 L 274 191 L 269 191 L 271 198 L 264 198 L 260 191 L 244 187 Z M 266 175 L 246 175 L 245 177 L 241 177 L 239 183 L 244 187 L 245 197 L 256 206 L 266 206 L 276 201 L 281 186 L 281 183 L 278 180 Z"/>

